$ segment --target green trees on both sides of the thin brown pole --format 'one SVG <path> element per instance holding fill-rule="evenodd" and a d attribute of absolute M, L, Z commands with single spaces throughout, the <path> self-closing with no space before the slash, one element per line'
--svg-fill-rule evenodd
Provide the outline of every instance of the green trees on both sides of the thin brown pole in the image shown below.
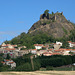
<path fill-rule="evenodd" d="M 16 71 L 32 71 L 33 69 L 32 69 L 32 65 L 31 65 L 30 56 L 32 56 L 32 54 L 26 54 L 22 57 L 13 59 L 17 64 L 17 67 L 14 70 L 16 70 Z M 34 71 L 40 69 L 40 62 L 35 58 L 33 59 L 33 65 L 34 65 Z"/>

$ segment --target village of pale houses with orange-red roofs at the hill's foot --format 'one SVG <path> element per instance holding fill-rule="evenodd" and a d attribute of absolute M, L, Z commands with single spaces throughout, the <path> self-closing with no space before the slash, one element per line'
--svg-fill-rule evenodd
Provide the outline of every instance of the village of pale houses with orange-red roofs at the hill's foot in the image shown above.
<path fill-rule="evenodd" d="M 74 55 L 75 49 L 72 48 L 75 47 L 75 42 L 68 41 L 68 44 L 70 49 L 61 48 L 63 43 L 58 41 L 51 44 L 34 44 L 35 49 L 26 49 L 26 46 L 18 47 L 17 45 L 2 43 L 0 54 L 4 54 L 4 58 L 6 58 L 7 55 L 9 55 L 11 58 L 16 58 L 29 53 L 35 56 Z M 16 63 L 11 59 L 4 59 L 4 61 L 1 61 L 1 63 L 3 65 L 10 65 L 11 68 L 16 67 Z"/>

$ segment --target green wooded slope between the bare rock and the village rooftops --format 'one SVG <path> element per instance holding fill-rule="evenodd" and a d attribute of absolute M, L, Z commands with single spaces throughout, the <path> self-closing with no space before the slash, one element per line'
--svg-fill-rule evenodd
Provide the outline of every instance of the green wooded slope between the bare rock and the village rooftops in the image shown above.
<path fill-rule="evenodd" d="M 23 32 L 18 37 L 13 38 L 11 41 L 5 41 L 5 43 L 17 44 L 18 46 L 26 46 L 27 49 L 34 49 L 34 44 L 55 43 L 56 41 L 62 42 L 63 48 L 68 48 L 67 41 L 75 42 L 75 30 L 71 31 L 71 35 L 69 37 L 64 36 L 63 38 L 54 38 L 53 36 L 48 36 L 45 33 L 31 36 Z"/>

